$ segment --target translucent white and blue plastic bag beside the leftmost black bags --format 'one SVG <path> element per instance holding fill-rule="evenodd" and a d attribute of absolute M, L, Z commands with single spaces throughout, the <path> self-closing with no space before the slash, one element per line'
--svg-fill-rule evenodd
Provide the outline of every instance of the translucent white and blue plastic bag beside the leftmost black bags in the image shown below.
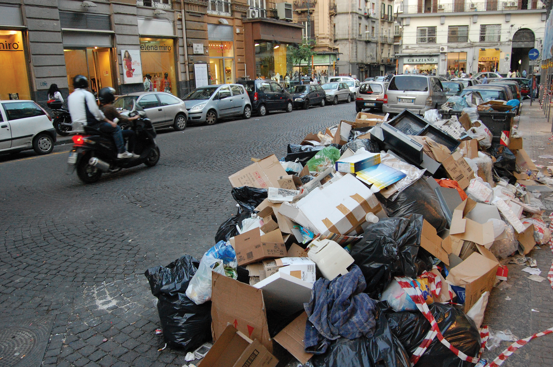
<path fill-rule="evenodd" d="M 236 279 L 236 253 L 229 242 L 218 242 L 208 249 L 200 261 L 198 271 L 186 289 L 186 296 L 196 305 L 211 300 L 211 274 L 216 272 Z"/>

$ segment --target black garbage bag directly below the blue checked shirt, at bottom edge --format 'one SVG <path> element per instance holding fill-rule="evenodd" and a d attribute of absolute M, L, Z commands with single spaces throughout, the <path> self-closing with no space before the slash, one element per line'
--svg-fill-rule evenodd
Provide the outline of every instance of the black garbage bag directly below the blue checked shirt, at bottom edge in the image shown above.
<path fill-rule="evenodd" d="M 328 347 L 326 354 L 310 360 L 315 367 L 373 367 L 367 352 L 367 338 L 338 338 Z"/>

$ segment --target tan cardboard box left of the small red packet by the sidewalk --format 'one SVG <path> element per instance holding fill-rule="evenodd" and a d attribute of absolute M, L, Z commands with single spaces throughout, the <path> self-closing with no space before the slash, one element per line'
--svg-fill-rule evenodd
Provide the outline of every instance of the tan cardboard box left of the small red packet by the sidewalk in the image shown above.
<path fill-rule="evenodd" d="M 461 264 L 450 269 L 446 277 L 448 283 L 465 286 L 465 312 L 476 304 L 483 292 L 492 290 L 498 267 L 497 260 L 474 252 Z"/>

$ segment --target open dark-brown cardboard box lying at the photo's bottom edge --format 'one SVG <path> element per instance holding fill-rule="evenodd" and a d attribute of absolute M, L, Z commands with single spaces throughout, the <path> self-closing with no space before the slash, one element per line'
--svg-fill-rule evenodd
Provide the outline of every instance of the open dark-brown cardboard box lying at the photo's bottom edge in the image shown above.
<path fill-rule="evenodd" d="M 252 341 L 232 325 L 227 325 L 199 367 L 275 367 L 278 359 L 257 339 Z"/>

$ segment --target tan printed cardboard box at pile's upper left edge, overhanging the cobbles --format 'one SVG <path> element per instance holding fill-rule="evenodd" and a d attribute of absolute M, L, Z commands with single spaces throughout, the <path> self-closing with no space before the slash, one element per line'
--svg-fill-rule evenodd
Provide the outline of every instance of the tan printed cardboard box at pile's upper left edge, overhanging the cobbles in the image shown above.
<path fill-rule="evenodd" d="M 286 171 L 276 156 L 270 155 L 228 177 L 232 187 L 250 186 L 260 189 L 279 187 L 279 177 Z"/>

